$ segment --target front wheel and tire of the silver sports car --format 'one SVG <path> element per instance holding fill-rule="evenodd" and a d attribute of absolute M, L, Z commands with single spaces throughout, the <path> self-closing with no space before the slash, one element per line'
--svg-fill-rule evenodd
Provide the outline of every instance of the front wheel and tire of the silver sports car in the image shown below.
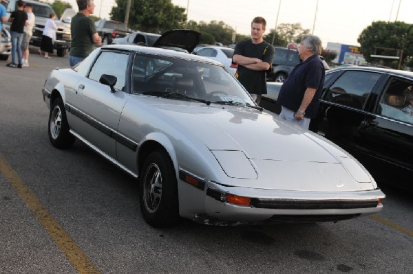
<path fill-rule="evenodd" d="M 139 200 L 142 216 L 152 227 L 170 227 L 178 221 L 176 172 L 164 150 L 151 152 L 145 160 Z"/>

